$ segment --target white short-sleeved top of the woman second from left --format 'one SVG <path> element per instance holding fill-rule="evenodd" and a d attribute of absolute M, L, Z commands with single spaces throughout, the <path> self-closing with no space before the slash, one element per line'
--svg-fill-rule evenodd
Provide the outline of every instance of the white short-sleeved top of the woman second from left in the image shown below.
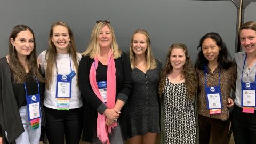
<path fill-rule="evenodd" d="M 46 50 L 41 52 L 38 56 L 39 64 L 41 67 L 41 71 L 43 74 L 46 72 L 46 59 L 45 59 Z M 77 54 L 77 62 L 79 63 L 82 55 L 80 53 Z M 70 61 L 69 61 L 69 54 L 60 54 L 57 53 L 57 67 L 58 67 L 58 74 L 61 75 L 68 75 L 70 71 Z M 83 105 L 82 97 L 80 90 L 77 85 L 77 69 L 74 66 L 74 62 L 71 59 L 71 67 L 72 70 L 76 72 L 76 75 L 72 78 L 72 85 L 71 85 L 71 98 L 69 101 L 69 108 L 79 108 Z M 45 74 L 47 75 L 47 74 Z M 56 98 L 56 83 L 57 83 L 57 73 L 56 73 L 56 67 L 53 67 L 53 79 L 52 83 L 50 84 L 50 89 L 46 89 L 45 87 L 45 98 L 44 98 L 44 106 L 52 109 L 57 109 L 57 98 Z"/>

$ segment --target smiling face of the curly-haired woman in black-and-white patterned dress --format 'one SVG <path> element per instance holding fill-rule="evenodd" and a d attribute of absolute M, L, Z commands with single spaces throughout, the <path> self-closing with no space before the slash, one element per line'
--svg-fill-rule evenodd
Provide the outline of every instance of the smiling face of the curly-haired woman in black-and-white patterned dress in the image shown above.
<path fill-rule="evenodd" d="M 174 47 L 171 51 L 170 62 L 173 69 L 183 70 L 186 62 L 186 55 L 183 49 Z"/>

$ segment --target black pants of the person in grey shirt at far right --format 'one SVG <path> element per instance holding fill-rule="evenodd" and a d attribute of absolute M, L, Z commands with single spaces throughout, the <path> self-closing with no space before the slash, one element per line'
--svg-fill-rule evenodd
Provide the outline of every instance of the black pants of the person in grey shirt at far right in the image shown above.
<path fill-rule="evenodd" d="M 256 114 L 243 113 L 242 108 L 234 106 L 232 117 L 233 136 L 236 144 L 256 143 Z"/>

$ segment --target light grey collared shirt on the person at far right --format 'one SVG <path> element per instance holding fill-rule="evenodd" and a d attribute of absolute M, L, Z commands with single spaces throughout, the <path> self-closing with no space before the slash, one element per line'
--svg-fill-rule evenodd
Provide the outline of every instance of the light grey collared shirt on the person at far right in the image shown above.
<path fill-rule="evenodd" d="M 237 65 L 237 78 L 236 78 L 236 97 L 235 97 L 235 104 L 242 108 L 242 88 L 241 88 L 241 77 L 242 77 L 242 70 L 244 65 L 246 52 L 238 52 L 235 54 L 235 62 Z M 247 68 L 247 60 L 245 61 L 244 70 L 243 70 L 243 82 L 253 83 L 255 82 L 255 74 L 256 74 L 256 62 L 250 68 Z"/>

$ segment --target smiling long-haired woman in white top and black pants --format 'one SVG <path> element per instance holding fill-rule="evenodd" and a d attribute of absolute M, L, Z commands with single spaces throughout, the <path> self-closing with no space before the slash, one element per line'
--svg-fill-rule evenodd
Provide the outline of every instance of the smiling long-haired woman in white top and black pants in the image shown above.
<path fill-rule="evenodd" d="M 79 143 L 82 133 L 82 97 L 77 85 L 81 54 L 76 52 L 74 35 L 65 22 L 54 22 L 49 49 L 38 56 L 45 75 L 46 134 L 49 143 Z"/>

